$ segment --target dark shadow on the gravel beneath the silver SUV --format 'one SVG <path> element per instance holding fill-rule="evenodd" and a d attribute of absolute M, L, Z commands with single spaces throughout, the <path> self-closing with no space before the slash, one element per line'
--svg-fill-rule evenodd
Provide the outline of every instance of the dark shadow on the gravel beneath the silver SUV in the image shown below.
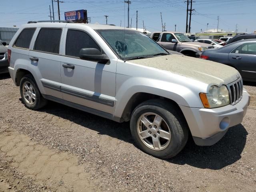
<path fill-rule="evenodd" d="M 108 135 L 124 142 L 135 143 L 130 133 L 129 122 L 118 123 L 56 102 L 49 102 L 40 112 L 70 120 L 80 126 Z M 188 164 L 197 168 L 218 170 L 241 158 L 248 132 L 239 124 L 228 130 L 226 135 L 213 146 L 197 146 L 192 137 L 185 148 L 174 158 L 166 160 L 173 164 Z M 137 147 L 137 146 L 135 146 Z"/>

